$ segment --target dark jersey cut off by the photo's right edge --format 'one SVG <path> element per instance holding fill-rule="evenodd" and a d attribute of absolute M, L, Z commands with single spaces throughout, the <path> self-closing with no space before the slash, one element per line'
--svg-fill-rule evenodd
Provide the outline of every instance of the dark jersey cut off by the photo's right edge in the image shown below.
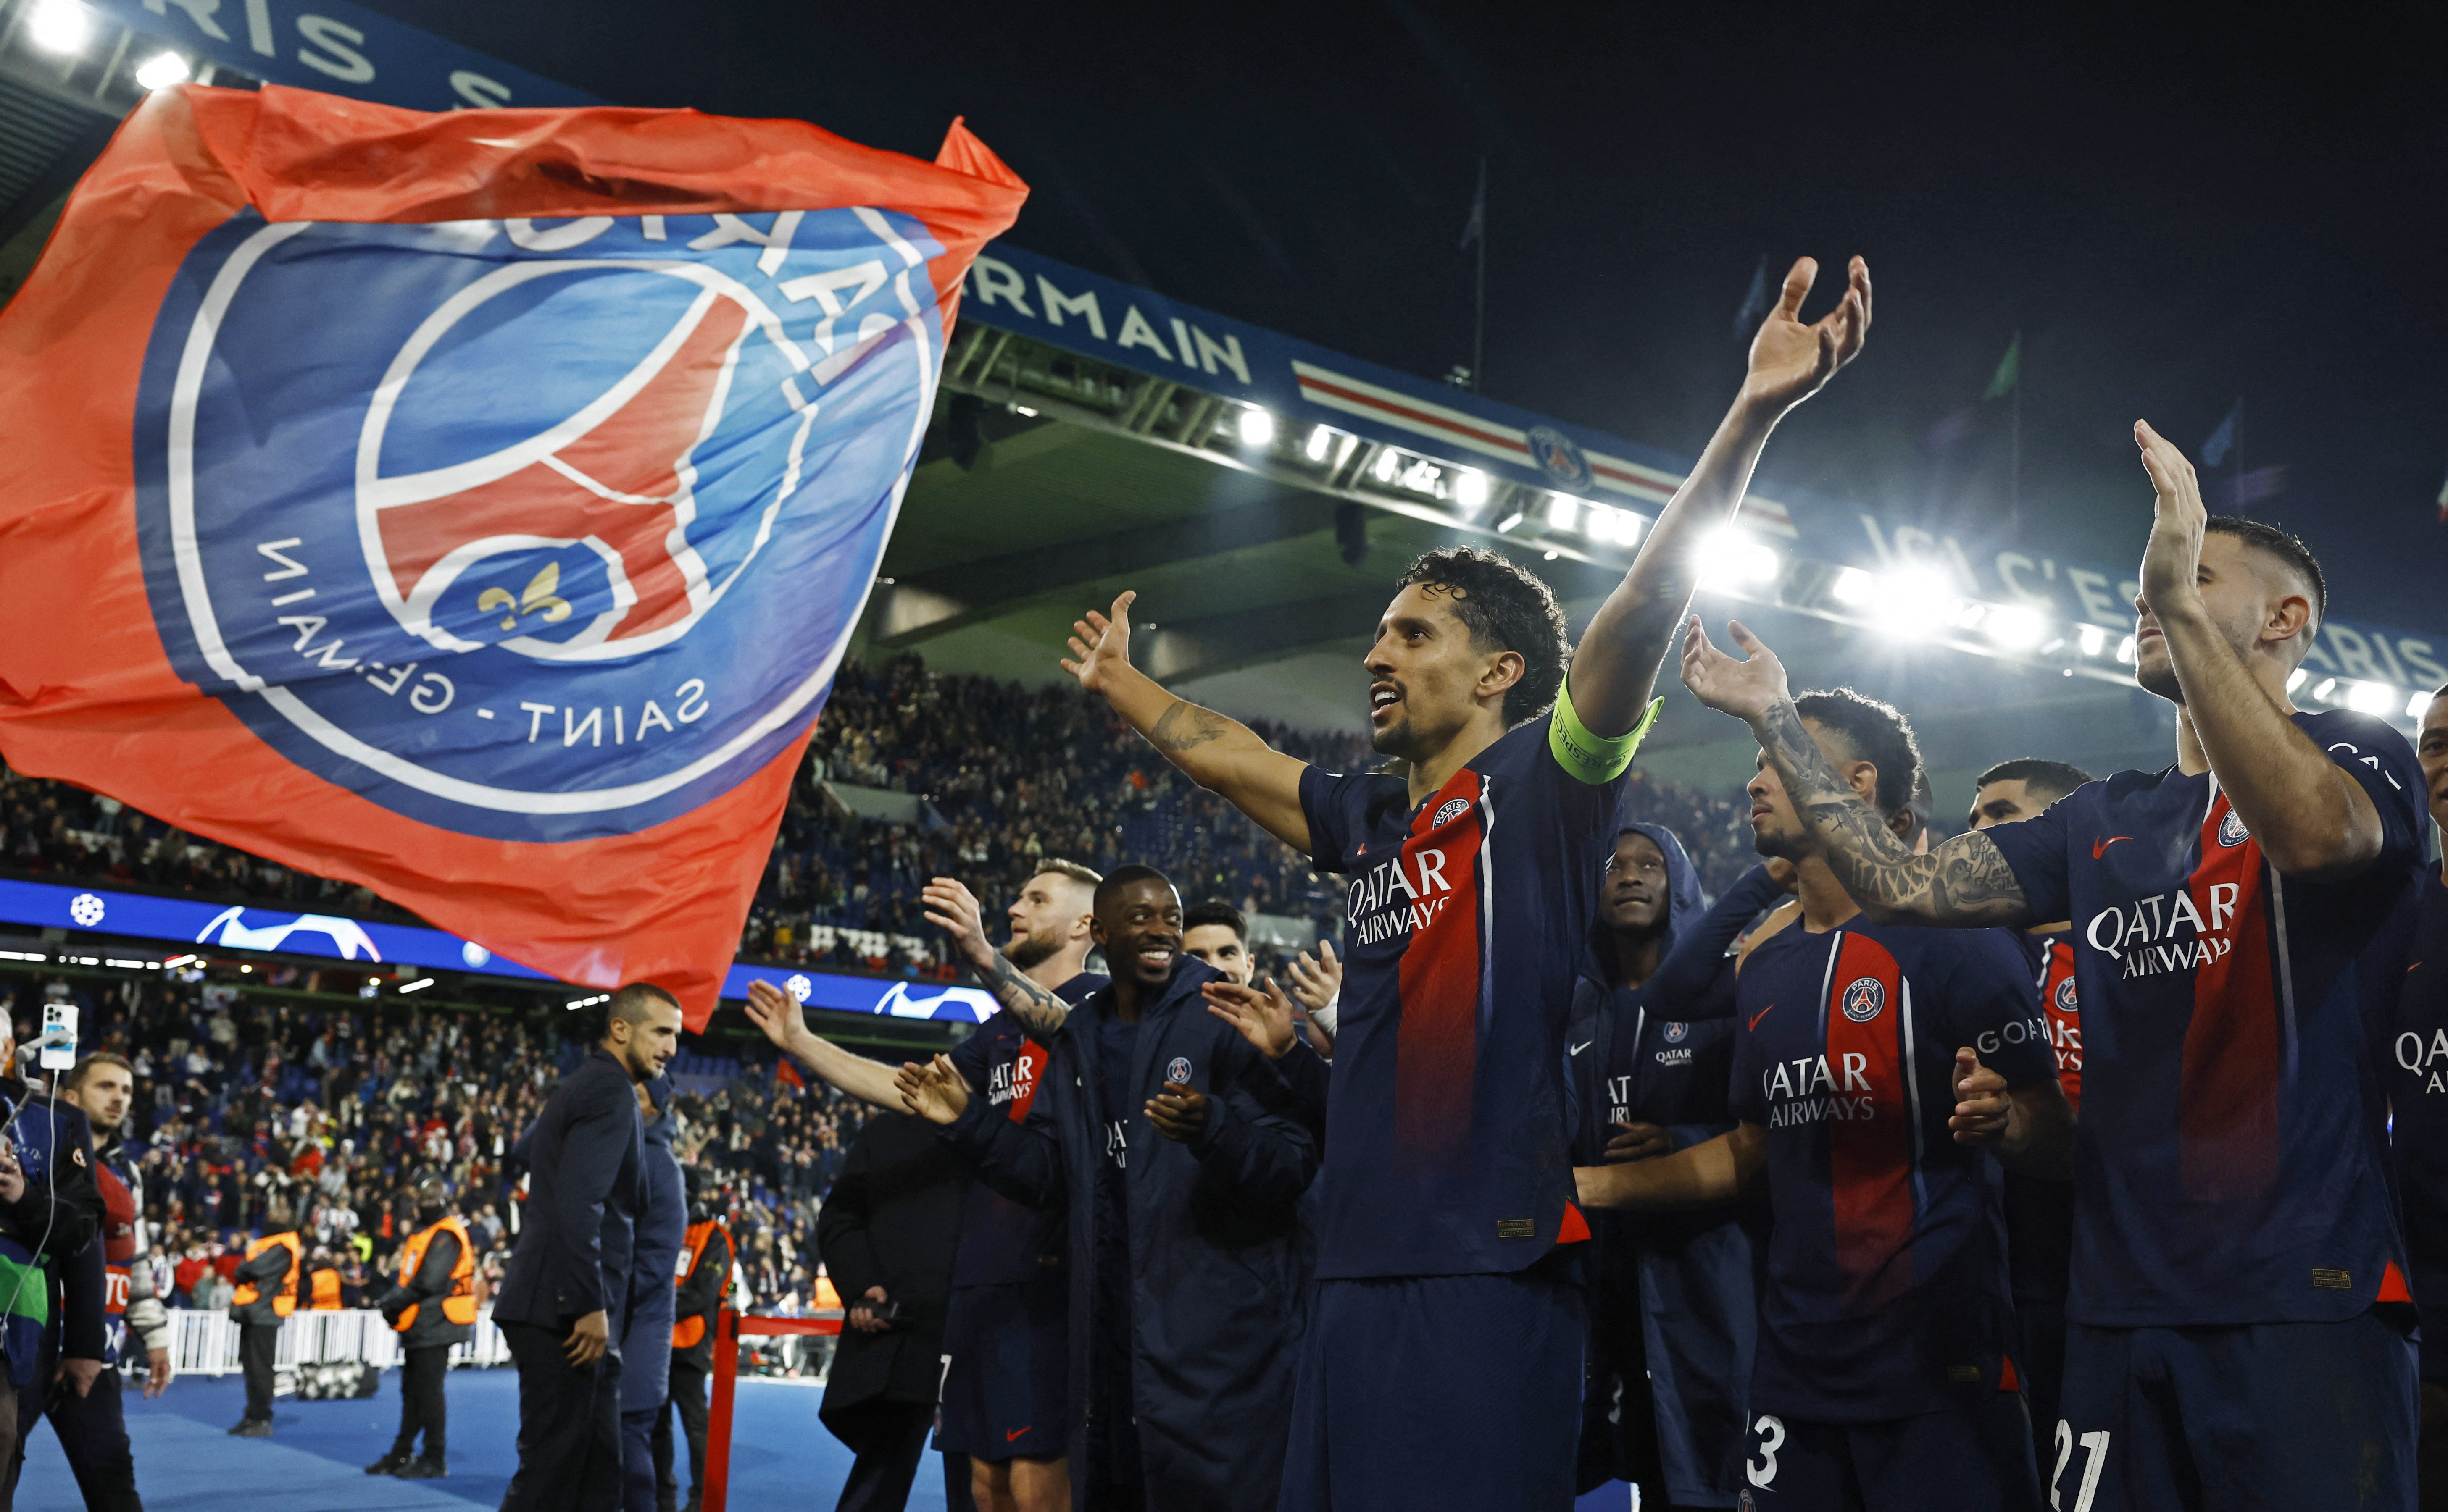
<path fill-rule="evenodd" d="M 2424 1319 L 2424 1380 L 2448 1380 L 2448 886 L 2438 871 L 2424 876 L 2389 1028 L 2389 1133 Z"/>

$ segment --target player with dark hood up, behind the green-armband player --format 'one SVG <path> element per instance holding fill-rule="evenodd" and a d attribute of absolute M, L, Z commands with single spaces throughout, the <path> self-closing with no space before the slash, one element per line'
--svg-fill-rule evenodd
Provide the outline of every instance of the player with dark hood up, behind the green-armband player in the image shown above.
<path fill-rule="evenodd" d="M 1625 825 L 1606 861 L 1591 974 L 1574 984 L 1564 1040 L 1579 1099 L 1574 1165 L 1652 1160 L 1733 1128 L 1733 1020 L 1684 1018 L 1682 1003 L 1652 991 L 1701 910 L 1699 873 L 1674 832 Z M 1721 952 L 1716 942 L 1709 954 Z M 1628 1480 L 1645 1507 L 1733 1505 L 1758 1336 L 1741 1214 L 1738 1204 L 1643 1221 L 1591 1214 L 1577 1490 Z"/>

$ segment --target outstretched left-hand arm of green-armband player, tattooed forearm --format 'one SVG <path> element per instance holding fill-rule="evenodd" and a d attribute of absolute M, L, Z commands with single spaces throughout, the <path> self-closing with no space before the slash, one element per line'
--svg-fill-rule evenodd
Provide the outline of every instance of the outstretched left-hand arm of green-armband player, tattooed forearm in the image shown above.
<path fill-rule="evenodd" d="M 1114 705 L 1114 712 L 1192 783 L 1222 793 L 1261 829 L 1307 851 L 1310 817 L 1300 810 L 1300 773 L 1307 761 L 1268 746 L 1246 724 L 1173 697 L 1163 683 L 1133 668 L 1131 599 L 1136 597 L 1124 592 L 1114 599 L 1111 614 L 1089 609 L 1087 619 L 1075 621 L 1072 653 L 1062 658 L 1062 670 Z"/>

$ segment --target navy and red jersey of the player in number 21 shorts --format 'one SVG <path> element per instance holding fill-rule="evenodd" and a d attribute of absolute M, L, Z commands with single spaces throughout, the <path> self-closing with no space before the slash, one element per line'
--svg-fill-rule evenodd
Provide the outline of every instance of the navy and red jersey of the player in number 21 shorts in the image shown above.
<path fill-rule="evenodd" d="M 2338 1321 L 2404 1284 L 2370 1054 L 2401 974 L 2424 780 L 2401 734 L 2294 714 L 2379 810 L 2379 859 L 2279 878 L 2211 773 L 2118 773 L 1983 834 L 2073 920 L 2073 1280 L 2100 1329 Z"/>

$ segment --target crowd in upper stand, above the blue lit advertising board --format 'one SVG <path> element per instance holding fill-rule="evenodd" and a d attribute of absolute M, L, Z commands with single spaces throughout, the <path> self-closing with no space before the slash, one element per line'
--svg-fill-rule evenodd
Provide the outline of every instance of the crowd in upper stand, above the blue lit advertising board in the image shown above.
<path fill-rule="evenodd" d="M 1334 771 L 1373 761 L 1359 736 L 1258 722 L 1273 746 Z M 916 800 L 906 822 L 859 817 L 835 788 Z M 1750 864 L 1748 805 L 1650 780 L 1635 768 L 1633 817 L 1682 834 L 1709 893 Z M 930 876 L 1009 898 L 1038 859 L 1099 871 L 1148 861 L 1185 898 L 1315 920 L 1334 932 L 1339 883 L 1231 805 L 1192 788 L 1104 700 L 928 673 L 916 656 L 842 663 L 791 788 L 742 959 L 947 976 L 918 908 Z M 196 839 L 118 800 L 0 768 L 0 871 L 181 891 L 414 922 L 370 891 Z"/>

